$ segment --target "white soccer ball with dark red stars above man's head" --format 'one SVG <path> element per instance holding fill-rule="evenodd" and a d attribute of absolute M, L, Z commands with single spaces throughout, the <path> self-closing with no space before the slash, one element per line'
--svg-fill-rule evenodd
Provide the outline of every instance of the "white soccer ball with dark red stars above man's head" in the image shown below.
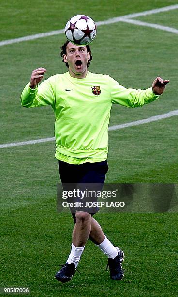
<path fill-rule="evenodd" d="M 96 36 L 96 24 L 89 16 L 73 16 L 65 26 L 65 35 L 73 44 L 86 46 Z"/>

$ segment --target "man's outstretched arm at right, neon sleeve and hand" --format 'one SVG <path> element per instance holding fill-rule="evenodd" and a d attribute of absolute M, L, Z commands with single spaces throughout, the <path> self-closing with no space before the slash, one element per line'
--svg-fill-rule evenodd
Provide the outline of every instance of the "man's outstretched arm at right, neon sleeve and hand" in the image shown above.
<path fill-rule="evenodd" d="M 113 80 L 114 81 L 114 80 Z M 148 104 L 159 98 L 163 93 L 165 85 L 169 81 L 163 81 L 160 77 L 156 78 L 152 84 L 152 88 L 146 90 L 126 89 L 119 85 L 118 82 L 112 82 L 111 100 L 112 103 L 121 104 L 127 107 L 137 107 Z"/>

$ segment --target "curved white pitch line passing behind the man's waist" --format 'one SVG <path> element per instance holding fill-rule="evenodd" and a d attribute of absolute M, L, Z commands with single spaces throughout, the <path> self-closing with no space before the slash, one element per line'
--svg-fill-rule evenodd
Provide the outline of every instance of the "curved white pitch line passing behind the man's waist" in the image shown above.
<path fill-rule="evenodd" d="M 142 120 L 138 120 L 138 121 L 134 121 L 134 122 L 130 122 L 130 123 L 125 123 L 125 124 L 120 124 L 120 125 L 116 125 L 116 126 L 110 126 L 109 127 L 109 131 L 113 131 L 113 130 L 119 130 L 119 129 L 123 129 L 126 127 L 131 127 L 131 126 L 138 126 L 138 125 L 142 125 L 142 124 L 146 124 L 146 123 L 151 123 L 151 122 L 155 122 L 164 118 L 169 118 L 172 116 L 178 115 L 178 109 L 177 110 L 173 110 L 167 114 L 163 114 L 163 115 L 155 115 L 155 116 L 151 116 Z M 10 148 L 10 147 L 18 147 L 18 146 L 25 146 L 25 145 L 29 145 L 29 144 L 35 144 L 35 143 L 41 143 L 41 142 L 49 142 L 49 141 L 54 141 L 55 137 L 48 137 L 48 138 L 41 138 L 41 139 L 36 139 L 36 140 L 28 140 L 28 141 L 22 141 L 22 142 L 14 142 L 14 143 L 7 143 L 7 144 L 2 144 L 0 145 L 0 148 Z"/>

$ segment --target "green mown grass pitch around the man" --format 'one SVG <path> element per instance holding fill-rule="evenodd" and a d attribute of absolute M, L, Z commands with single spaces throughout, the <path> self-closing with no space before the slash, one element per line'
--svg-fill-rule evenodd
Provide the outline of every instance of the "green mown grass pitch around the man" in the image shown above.
<path fill-rule="evenodd" d="M 0 0 L 0 41 L 64 28 L 75 14 L 96 21 L 142 12 L 176 0 Z M 134 18 L 178 30 L 178 9 Z M 59 58 L 64 34 L 0 47 L 0 144 L 54 136 L 50 107 L 25 109 L 20 94 L 31 71 L 45 78 L 67 70 Z M 142 108 L 114 105 L 110 126 L 178 110 L 178 34 L 117 22 L 98 27 L 89 70 L 125 87 L 144 89 L 158 75 L 170 79 L 161 99 Z M 177 116 L 109 132 L 106 182 L 177 183 Z M 73 220 L 58 213 L 54 142 L 0 148 L 0 287 L 29 287 L 30 296 L 177 296 L 178 214 L 96 214 L 105 234 L 123 248 L 125 276 L 109 279 L 107 258 L 88 242 L 74 279 L 54 279 L 70 252 Z"/>

